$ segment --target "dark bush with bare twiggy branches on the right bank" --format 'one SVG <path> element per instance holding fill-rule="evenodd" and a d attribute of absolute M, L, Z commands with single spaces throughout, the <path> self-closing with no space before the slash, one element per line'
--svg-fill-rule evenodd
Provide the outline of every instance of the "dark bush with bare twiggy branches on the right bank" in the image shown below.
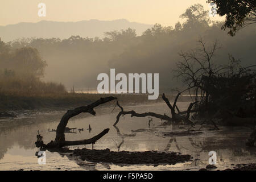
<path fill-rule="evenodd" d="M 207 47 L 202 39 L 200 47 L 191 52 L 181 52 L 176 76 L 187 84 L 187 90 L 199 101 L 199 113 L 215 114 L 218 111 L 238 111 L 241 108 L 254 113 L 256 91 L 256 65 L 241 67 L 240 60 L 229 55 L 229 64 L 216 64 L 220 47 L 217 42 Z"/>

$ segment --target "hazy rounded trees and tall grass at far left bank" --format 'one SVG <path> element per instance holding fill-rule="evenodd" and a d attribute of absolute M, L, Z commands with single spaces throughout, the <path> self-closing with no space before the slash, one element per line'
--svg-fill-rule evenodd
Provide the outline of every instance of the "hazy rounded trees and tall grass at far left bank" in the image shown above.
<path fill-rule="evenodd" d="M 47 63 L 36 48 L 13 49 L 0 42 L 0 60 L 0 94 L 32 96 L 66 92 L 62 84 L 41 80 Z"/>

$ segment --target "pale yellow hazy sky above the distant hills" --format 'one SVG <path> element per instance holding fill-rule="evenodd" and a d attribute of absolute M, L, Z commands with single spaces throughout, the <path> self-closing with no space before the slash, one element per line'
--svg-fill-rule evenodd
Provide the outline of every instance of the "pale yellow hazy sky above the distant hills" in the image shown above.
<path fill-rule="evenodd" d="M 195 3 L 209 10 L 207 0 L 1 0 L 0 25 L 53 20 L 127 19 L 131 22 L 174 26 L 179 15 Z M 38 4 L 46 4 L 46 17 L 38 16 Z M 214 17 L 214 20 L 220 19 Z"/>

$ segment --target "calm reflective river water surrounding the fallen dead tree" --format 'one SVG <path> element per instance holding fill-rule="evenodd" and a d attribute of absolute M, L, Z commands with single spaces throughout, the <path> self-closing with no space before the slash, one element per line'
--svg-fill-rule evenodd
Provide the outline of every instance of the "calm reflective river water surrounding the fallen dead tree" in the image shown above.
<path fill-rule="evenodd" d="M 181 110 L 186 110 L 189 103 L 179 102 L 178 105 Z M 83 113 L 71 118 L 67 127 L 83 128 L 84 131 L 75 130 L 75 133 L 65 134 L 65 138 L 67 140 L 88 139 L 109 128 L 109 133 L 94 144 L 95 149 L 174 151 L 192 155 L 193 160 L 156 167 L 154 165 L 117 166 L 81 161 L 69 154 L 46 151 L 46 164 L 39 165 L 38 158 L 35 156 L 38 148 L 34 144 L 37 131 L 39 130 L 43 136 L 44 143 L 53 140 L 56 133 L 49 132 L 48 129 L 56 129 L 61 116 L 65 113 L 65 111 L 53 111 L 0 120 L 0 170 L 197 170 L 207 166 L 208 152 L 212 150 L 217 152 L 218 169 L 232 168 L 231 164 L 256 162 L 255 147 L 245 146 L 245 140 L 251 133 L 251 130 L 246 127 L 220 127 L 218 131 L 209 131 L 209 127 L 205 127 L 203 133 L 197 135 L 164 137 L 163 133 L 187 129 L 180 129 L 181 126 L 177 125 L 164 126 L 163 122 L 156 118 L 153 119 L 153 125 L 148 126 L 148 118 L 131 118 L 129 115 L 121 117 L 118 128 L 115 128 L 112 125 L 119 109 L 115 108 L 112 113 L 113 107 L 95 109 L 96 116 Z M 125 107 L 125 110 L 131 109 L 138 113 L 146 111 L 169 113 L 168 107 L 162 103 Z M 90 133 L 87 130 L 89 125 L 92 127 Z M 92 148 L 92 144 L 69 148 L 73 150 L 83 147 Z"/>

